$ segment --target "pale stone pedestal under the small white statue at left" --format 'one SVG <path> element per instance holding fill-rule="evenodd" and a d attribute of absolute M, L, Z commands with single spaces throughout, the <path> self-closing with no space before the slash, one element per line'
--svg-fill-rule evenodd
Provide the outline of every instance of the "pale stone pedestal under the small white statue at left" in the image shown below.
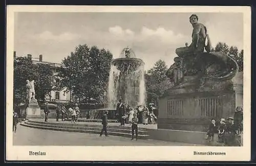
<path fill-rule="evenodd" d="M 26 118 L 41 118 L 40 107 L 36 99 L 32 99 L 29 106 L 27 107 Z"/>

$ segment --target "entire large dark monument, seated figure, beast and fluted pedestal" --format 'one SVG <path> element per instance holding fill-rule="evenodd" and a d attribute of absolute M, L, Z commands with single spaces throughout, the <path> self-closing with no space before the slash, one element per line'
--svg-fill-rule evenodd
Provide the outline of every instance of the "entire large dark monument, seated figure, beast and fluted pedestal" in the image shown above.
<path fill-rule="evenodd" d="M 210 52 L 206 27 L 197 15 L 189 21 L 192 43 L 176 49 L 178 57 L 167 70 L 174 86 L 159 99 L 158 129 L 206 131 L 211 118 L 232 116 L 236 108 L 232 78 L 238 64 L 222 52 Z"/>

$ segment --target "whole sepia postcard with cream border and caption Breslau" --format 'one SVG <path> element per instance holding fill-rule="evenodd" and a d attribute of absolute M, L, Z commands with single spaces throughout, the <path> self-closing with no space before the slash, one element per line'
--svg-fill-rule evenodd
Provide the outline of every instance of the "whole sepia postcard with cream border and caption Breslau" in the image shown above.
<path fill-rule="evenodd" d="M 250 15 L 8 6 L 7 158 L 249 160 Z"/>

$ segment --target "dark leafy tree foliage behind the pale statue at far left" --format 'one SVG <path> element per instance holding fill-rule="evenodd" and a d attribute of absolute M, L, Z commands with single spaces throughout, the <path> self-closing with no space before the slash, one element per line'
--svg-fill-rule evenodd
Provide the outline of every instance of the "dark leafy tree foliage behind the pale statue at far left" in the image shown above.
<path fill-rule="evenodd" d="M 26 101 L 26 80 L 35 81 L 35 98 L 38 102 L 45 100 L 45 95 L 49 93 L 53 85 L 53 72 L 47 64 L 33 64 L 27 57 L 17 57 L 14 59 L 14 89 L 13 102 L 15 104 Z"/>

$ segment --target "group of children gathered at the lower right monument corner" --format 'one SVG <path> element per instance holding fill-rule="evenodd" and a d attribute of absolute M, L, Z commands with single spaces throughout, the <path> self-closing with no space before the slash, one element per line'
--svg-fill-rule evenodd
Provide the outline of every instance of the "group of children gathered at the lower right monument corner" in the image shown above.
<path fill-rule="evenodd" d="M 227 146 L 236 144 L 236 135 L 240 136 L 243 131 L 243 108 L 238 106 L 234 117 L 221 118 L 219 124 L 214 118 L 211 119 L 206 139 L 213 141 L 214 135 L 218 134 L 218 143 L 224 143 Z"/>

